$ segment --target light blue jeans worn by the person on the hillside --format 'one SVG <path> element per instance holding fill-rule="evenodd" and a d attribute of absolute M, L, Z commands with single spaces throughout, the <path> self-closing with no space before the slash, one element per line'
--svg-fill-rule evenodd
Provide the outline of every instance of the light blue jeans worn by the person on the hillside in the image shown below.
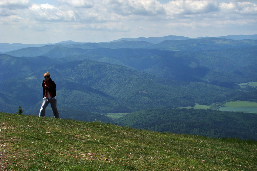
<path fill-rule="evenodd" d="M 45 116 L 45 109 L 49 103 L 51 104 L 55 118 L 59 118 L 59 112 L 57 110 L 57 100 L 56 99 L 47 99 L 46 97 L 43 98 L 43 103 L 42 103 L 41 109 L 39 111 L 39 116 L 40 117 Z"/>

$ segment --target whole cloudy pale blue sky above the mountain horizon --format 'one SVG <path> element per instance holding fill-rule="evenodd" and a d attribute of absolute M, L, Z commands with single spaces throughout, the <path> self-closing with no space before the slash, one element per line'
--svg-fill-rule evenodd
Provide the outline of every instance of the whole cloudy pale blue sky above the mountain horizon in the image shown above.
<path fill-rule="evenodd" d="M 0 0 L 0 43 L 257 34 L 257 0 Z"/>

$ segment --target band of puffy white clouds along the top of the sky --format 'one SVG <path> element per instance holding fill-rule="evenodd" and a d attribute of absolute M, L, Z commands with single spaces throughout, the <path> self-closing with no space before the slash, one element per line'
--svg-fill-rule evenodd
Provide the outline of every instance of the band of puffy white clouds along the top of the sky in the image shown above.
<path fill-rule="evenodd" d="M 18 15 L 36 21 L 54 22 L 126 22 L 152 19 L 199 18 L 198 14 L 256 14 L 257 5 L 250 2 L 219 3 L 217 0 L 175 0 L 161 4 L 157 0 L 57 0 L 59 6 L 33 4 L 28 0 L 4 0 L 0 16 Z M 12 10 L 26 8 L 25 10 Z M 156 17 L 153 17 L 156 16 Z"/>

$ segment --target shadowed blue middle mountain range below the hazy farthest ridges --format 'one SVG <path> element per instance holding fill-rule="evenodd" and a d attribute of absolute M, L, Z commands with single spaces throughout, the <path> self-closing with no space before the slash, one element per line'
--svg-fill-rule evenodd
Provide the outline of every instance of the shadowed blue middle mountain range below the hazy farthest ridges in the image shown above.
<path fill-rule="evenodd" d="M 49 51 L 44 53 L 43 56 L 51 58 L 67 57 L 71 61 L 96 60 L 127 66 L 171 80 L 208 82 L 217 86 L 238 89 L 239 87 L 234 83 L 257 81 L 255 72 L 257 70 L 256 47 L 176 52 L 141 48 L 82 49 L 47 46 Z M 39 49 L 35 51 L 35 48 L 33 48 L 30 53 L 39 51 L 42 52 Z"/>

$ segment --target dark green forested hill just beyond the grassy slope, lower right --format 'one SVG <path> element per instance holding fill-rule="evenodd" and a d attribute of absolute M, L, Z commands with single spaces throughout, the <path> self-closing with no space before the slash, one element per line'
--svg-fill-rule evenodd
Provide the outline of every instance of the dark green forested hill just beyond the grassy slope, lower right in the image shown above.
<path fill-rule="evenodd" d="M 121 126 L 151 131 L 257 140 L 256 114 L 205 109 L 146 109 L 117 119 Z"/>

